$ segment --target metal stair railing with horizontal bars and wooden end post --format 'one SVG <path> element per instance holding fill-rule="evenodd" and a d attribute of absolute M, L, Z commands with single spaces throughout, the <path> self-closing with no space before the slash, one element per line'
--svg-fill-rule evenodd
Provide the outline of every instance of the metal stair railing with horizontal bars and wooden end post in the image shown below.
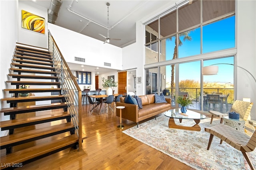
<path fill-rule="evenodd" d="M 82 90 L 66 63 L 50 30 L 48 30 L 48 50 L 51 52 L 53 65 L 56 69 L 62 94 L 68 104 L 72 121 L 78 135 L 78 150 L 82 150 Z"/>

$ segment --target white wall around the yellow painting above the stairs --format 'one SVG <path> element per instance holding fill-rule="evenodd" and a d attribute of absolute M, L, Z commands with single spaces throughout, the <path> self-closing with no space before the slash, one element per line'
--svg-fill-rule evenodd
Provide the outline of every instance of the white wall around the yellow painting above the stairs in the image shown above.
<path fill-rule="evenodd" d="M 9 9 L 10 10 L 10 9 Z M 38 15 L 48 21 L 48 10 L 41 6 L 36 5 L 32 1 L 18 1 L 18 41 L 28 45 L 37 47 L 48 48 L 48 27 L 45 24 L 45 34 L 31 31 L 21 27 L 21 10 L 25 10 L 32 14 Z"/>

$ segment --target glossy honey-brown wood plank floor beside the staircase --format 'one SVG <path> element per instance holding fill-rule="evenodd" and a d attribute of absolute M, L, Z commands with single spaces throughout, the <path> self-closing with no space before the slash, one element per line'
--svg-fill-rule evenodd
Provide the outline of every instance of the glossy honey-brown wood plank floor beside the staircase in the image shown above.
<path fill-rule="evenodd" d="M 96 111 L 87 113 L 87 109 L 83 105 L 82 129 L 88 138 L 82 143 L 82 151 L 72 148 L 62 150 L 17 170 L 193 170 L 122 133 L 136 123 L 122 119 L 124 128 L 121 130 L 117 127 L 120 118 L 116 117 L 116 112 L 110 109 L 108 114 L 103 111 L 98 115 Z M 42 126 L 46 125 L 50 124 Z M 48 140 L 41 139 L 40 142 Z"/>

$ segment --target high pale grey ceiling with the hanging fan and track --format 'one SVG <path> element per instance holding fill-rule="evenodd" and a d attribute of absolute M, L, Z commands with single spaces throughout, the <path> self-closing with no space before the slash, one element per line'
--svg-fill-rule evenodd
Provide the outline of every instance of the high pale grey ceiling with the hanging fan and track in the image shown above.
<path fill-rule="evenodd" d="M 58 1 L 58 0 L 57 0 Z M 178 0 L 62 0 L 56 25 L 102 41 L 109 27 L 110 44 L 125 47 L 136 41 L 136 21 L 158 8 L 170 7 Z M 109 26 L 107 5 L 109 2 Z M 51 0 L 34 3 L 50 9 Z M 168 5 L 167 5 L 168 4 Z M 121 39 L 121 40 L 111 40 Z"/>

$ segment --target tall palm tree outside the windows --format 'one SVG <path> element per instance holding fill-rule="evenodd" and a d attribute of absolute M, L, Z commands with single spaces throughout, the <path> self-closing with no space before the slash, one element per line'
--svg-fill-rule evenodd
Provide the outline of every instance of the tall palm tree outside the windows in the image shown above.
<path fill-rule="evenodd" d="M 182 46 L 182 41 L 180 40 L 180 37 L 184 37 L 183 41 L 191 41 L 192 37 L 190 37 L 188 34 L 190 33 L 190 31 L 181 33 L 178 35 L 178 45 Z M 170 40 L 172 40 L 172 37 L 169 38 Z M 172 59 L 177 59 L 177 36 L 175 36 L 175 47 L 174 47 L 174 53 L 173 53 L 173 58 Z M 171 65 L 172 67 L 172 76 L 171 76 L 171 96 L 174 96 L 174 64 Z"/>

